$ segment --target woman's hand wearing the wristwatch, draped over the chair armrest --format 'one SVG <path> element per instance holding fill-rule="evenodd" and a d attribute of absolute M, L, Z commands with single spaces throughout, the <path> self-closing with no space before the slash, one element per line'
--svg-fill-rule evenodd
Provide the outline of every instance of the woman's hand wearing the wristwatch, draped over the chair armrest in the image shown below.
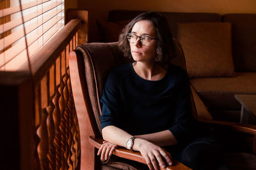
<path fill-rule="evenodd" d="M 172 166 L 172 157 L 163 148 L 156 144 L 150 143 L 144 139 L 134 139 L 134 150 L 140 151 L 141 155 L 145 158 L 150 170 L 166 168 L 166 166 Z"/>

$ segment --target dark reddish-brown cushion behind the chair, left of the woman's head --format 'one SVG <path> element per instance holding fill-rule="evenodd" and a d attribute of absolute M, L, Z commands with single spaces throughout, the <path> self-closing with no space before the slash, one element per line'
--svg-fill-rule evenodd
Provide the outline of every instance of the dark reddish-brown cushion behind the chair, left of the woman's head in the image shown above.
<path fill-rule="evenodd" d="M 122 29 L 129 23 L 129 20 L 119 22 L 106 22 L 97 20 L 99 27 L 100 42 L 118 42 Z"/>

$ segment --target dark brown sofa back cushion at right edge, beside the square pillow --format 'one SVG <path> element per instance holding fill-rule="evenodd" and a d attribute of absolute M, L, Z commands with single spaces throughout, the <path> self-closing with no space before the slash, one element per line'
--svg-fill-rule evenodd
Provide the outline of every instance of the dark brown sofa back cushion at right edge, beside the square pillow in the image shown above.
<path fill-rule="evenodd" d="M 256 72 L 256 14 L 226 14 L 232 23 L 232 50 L 236 72 Z"/>

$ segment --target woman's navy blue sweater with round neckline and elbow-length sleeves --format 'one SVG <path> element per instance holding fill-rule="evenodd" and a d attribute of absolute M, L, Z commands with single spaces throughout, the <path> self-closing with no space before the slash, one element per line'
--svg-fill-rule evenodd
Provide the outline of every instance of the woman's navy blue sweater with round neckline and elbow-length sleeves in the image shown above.
<path fill-rule="evenodd" d="M 109 125 L 131 135 L 170 130 L 179 143 L 191 128 L 189 79 L 185 70 L 169 65 L 159 81 L 134 72 L 132 63 L 116 67 L 106 81 L 102 98 L 101 129 Z"/>

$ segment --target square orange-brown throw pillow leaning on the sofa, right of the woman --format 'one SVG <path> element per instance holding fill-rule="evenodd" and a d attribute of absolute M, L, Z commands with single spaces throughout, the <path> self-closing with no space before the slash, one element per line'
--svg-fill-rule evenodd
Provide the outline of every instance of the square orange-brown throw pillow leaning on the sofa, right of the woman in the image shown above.
<path fill-rule="evenodd" d="M 234 76 L 229 22 L 179 23 L 178 40 L 190 78 Z"/>

